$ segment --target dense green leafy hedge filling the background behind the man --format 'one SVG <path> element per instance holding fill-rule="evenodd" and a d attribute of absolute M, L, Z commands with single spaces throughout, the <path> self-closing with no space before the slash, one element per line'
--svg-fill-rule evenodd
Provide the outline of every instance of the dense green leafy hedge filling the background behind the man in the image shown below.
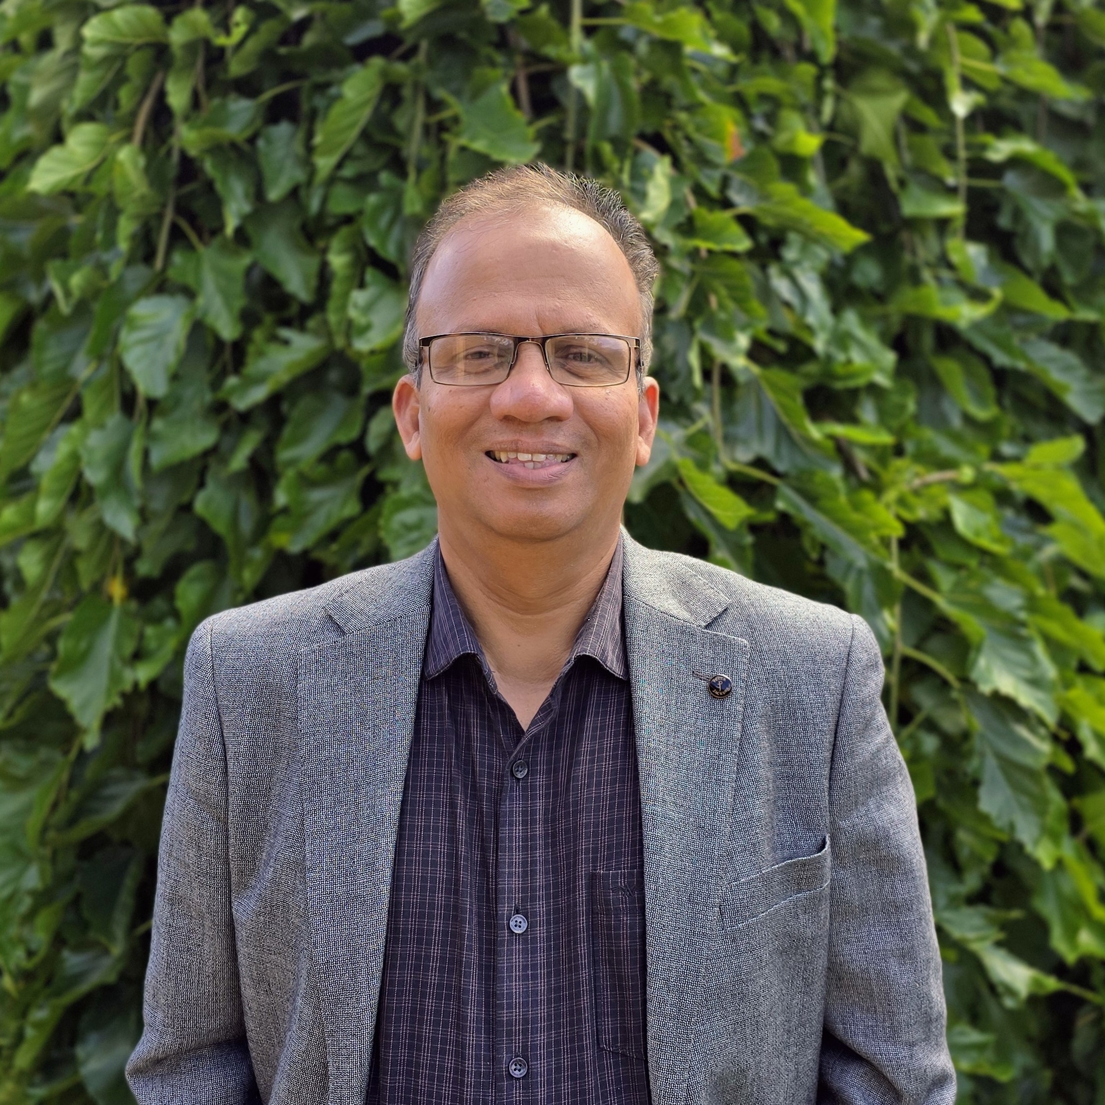
<path fill-rule="evenodd" d="M 537 157 L 663 263 L 632 532 L 883 644 L 961 1099 L 1105 1101 L 1105 10 L 383 4 L 0 3 L 0 1102 L 128 1099 L 189 633 L 429 539 L 406 257 Z"/>

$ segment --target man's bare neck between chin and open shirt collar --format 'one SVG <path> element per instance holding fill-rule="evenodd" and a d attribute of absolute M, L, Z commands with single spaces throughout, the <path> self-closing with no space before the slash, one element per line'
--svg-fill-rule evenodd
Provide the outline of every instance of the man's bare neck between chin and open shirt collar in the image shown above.
<path fill-rule="evenodd" d="M 618 546 L 618 526 L 580 540 L 473 540 L 441 519 L 449 579 L 499 693 L 525 728 L 548 696 Z"/>

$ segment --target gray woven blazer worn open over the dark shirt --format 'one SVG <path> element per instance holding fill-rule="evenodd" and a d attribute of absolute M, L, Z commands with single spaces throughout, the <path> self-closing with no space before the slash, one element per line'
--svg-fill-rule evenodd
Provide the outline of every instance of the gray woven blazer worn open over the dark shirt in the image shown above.
<path fill-rule="evenodd" d="M 432 579 L 431 547 L 196 631 L 127 1066 L 143 1105 L 362 1105 Z M 654 1105 L 950 1105 L 866 623 L 629 538 L 624 618 Z"/>

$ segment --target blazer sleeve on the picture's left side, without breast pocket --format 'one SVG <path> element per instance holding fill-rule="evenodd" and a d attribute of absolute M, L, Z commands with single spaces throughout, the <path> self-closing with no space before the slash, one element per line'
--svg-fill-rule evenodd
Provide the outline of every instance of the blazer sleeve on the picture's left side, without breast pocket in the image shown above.
<path fill-rule="evenodd" d="M 227 757 L 211 621 L 192 634 L 157 867 L 145 1030 L 127 1063 L 139 1105 L 260 1103 L 230 906 Z"/>

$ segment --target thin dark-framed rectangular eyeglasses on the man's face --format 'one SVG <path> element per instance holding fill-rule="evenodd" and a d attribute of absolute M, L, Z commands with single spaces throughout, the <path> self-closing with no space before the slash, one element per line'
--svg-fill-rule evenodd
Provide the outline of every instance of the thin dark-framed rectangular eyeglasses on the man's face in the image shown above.
<path fill-rule="evenodd" d="M 606 388 L 624 383 L 633 370 L 641 339 L 621 334 L 438 334 L 420 338 L 430 378 L 450 387 L 475 388 L 502 383 L 518 359 L 518 346 L 540 346 L 545 367 L 557 383 L 569 388 Z"/>

